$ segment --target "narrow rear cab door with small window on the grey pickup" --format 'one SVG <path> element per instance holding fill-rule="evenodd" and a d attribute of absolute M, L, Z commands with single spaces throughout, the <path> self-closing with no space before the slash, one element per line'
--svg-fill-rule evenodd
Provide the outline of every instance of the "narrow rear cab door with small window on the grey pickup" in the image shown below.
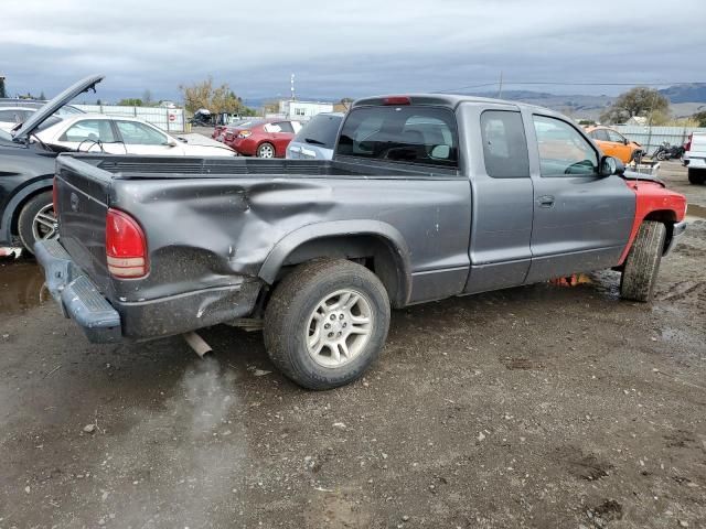
<path fill-rule="evenodd" d="M 513 105 L 464 104 L 461 119 L 472 194 L 471 270 L 464 292 L 522 284 L 532 258 L 533 215 L 522 115 Z"/>

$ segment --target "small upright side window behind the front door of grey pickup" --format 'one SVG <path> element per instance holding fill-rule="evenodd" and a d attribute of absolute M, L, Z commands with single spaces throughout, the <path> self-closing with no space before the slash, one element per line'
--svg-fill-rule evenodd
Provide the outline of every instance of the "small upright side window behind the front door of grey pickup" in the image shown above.
<path fill-rule="evenodd" d="M 528 179 L 530 155 L 520 112 L 485 110 L 481 114 L 485 172 L 493 179 Z"/>

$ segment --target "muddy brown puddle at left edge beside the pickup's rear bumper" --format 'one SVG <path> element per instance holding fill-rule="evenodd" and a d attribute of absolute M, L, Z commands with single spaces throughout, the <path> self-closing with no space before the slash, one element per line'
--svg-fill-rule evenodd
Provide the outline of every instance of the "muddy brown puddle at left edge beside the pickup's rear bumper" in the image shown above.
<path fill-rule="evenodd" d="M 0 314 L 19 314 L 50 298 L 36 262 L 0 259 Z"/>

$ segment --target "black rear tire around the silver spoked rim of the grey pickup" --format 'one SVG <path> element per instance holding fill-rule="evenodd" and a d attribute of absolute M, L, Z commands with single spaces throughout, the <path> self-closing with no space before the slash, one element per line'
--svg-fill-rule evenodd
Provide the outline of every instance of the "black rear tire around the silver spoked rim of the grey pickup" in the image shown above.
<path fill-rule="evenodd" d="M 364 346 L 345 364 L 322 366 L 308 348 L 311 316 L 322 300 L 345 289 L 362 294 L 367 303 L 370 332 Z M 315 390 L 336 388 L 361 377 L 375 361 L 387 338 L 389 316 L 387 291 L 368 269 L 345 259 L 310 261 L 297 267 L 275 289 L 265 313 L 265 347 L 272 363 L 296 384 Z M 335 319 L 334 322 L 338 325 Z M 342 339 L 350 337 L 359 339 L 353 334 Z M 323 335 L 320 339 L 324 339 Z M 333 350 L 329 348 L 329 353 L 332 355 Z M 322 355 L 323 349 L 317 358 L 321 359 Z"/>

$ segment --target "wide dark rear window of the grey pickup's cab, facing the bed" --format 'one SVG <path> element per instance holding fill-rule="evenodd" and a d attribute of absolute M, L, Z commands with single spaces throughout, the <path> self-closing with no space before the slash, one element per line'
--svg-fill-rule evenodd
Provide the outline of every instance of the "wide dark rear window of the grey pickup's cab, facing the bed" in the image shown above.
<path fill-rule="evenodd" d="M 343 123 L 336 154 L 457 168 L 456 117 L 439 107 L 354 108 Z"/>

